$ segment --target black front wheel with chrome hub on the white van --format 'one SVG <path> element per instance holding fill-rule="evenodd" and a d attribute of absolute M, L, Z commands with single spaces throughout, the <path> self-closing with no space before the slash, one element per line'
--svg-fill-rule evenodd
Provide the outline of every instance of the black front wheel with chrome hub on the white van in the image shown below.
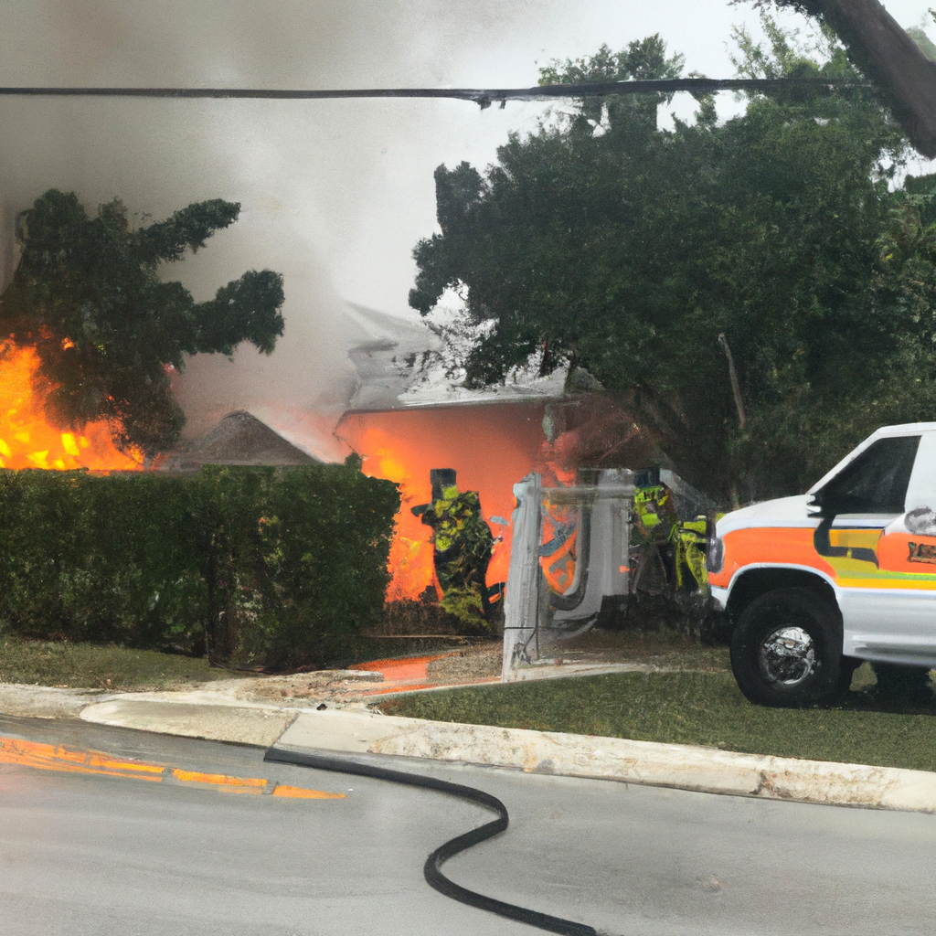
<path fill-rule="evenodd" d="M 756 598 L 731 639 L 739 689 L 758 705 L 802 708 L 841 692 L 841 628 L 822 595 L 784 588 Z"/>

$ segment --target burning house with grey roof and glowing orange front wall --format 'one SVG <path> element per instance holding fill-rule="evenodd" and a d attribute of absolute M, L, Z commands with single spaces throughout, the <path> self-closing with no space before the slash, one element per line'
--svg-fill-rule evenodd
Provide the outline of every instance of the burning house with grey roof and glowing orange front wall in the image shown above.
<path fill-rule="evenodd" d="M 348 357 L 358 385 L 336 435 L 364 460 L 363 471 L 401 485 L 402 508 L 390 554 L 388 598 L 416 599 L 435 587 L 433 543 L 421 505 L 432 502 L 431 473 L 454 470 L 476 491 L 493 545 L 487 583 L 507 578 L 513 486 L 537 472 L 545 483 L 574 483 L 579 467 L 670 467 L 657 437 L 587 375 L 519 376 L 484 390 L 461 387 L 441 359 L 439 337 L 422 322 L 349 309 Z M 571 384 L 571 390 L 569 385 Z M 416 510 L 414 511 L 414 508 Z"/>

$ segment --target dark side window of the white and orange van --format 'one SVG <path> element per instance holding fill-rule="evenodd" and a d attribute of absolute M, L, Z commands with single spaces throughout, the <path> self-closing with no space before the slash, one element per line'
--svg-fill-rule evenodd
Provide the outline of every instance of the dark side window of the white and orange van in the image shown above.
<path fill-rule="evenodd" d="M 918 435 L 878 439 L 816 491 L 814 503 L 826 516 L 902 514 L 919 444 Z"/>

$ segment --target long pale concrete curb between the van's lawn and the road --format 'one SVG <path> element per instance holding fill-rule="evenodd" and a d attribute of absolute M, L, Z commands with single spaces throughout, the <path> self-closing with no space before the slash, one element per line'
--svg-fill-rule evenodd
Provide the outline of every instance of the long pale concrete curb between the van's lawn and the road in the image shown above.
<path fill-rule="evenodd" d="M 683 744 L 424 722 L 351 711 L 301 713 L 277 744 L 732 796 L 936 812 L 936 774 L 923 770 L 832 764 Z"/>

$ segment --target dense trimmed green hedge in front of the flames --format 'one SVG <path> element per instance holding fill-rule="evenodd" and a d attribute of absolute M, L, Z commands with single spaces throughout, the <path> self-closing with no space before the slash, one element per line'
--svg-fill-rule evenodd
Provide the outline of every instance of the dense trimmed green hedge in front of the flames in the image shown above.
<path fill-rule="evenodd" d="M 379 618 L 399 505 L 350 460 L 0 470 L 0 629 L 316 665 Z"/>

